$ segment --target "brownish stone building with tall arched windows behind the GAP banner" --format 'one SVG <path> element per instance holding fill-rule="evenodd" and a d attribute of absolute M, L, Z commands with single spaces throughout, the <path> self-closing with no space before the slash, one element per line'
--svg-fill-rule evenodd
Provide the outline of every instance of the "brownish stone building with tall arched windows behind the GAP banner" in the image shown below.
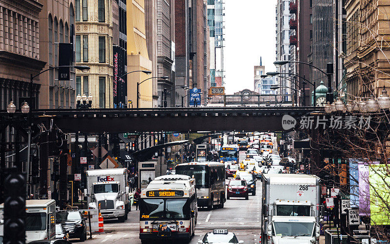
<path fill-rule="evenodd" d="M 43 69 L 48 69 L 59 65 L 60 42 L 75 44 L 75 1 L 39 2 L 43 4 L 39 13 L 39 58 L 46 62 Z M 75 107 L 75 69 L 71 69 L 69 81 L 59 81 L 58 72 L 52 69 L 39 75 L 39 108 Z"/>

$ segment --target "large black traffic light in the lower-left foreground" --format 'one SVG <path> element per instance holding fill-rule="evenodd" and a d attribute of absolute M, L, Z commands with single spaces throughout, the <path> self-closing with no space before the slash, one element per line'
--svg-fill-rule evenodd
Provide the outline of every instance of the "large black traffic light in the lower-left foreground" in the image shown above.
<path fill-rule="evenodd" d="M 4 243 L 25 243 L 26 175 L 16 167 L 4 179 Z"/>

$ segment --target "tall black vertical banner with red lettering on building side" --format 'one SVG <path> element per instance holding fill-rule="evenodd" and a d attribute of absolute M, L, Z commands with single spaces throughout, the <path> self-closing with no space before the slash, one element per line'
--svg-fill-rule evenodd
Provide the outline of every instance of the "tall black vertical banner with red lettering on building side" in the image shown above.
<path fill-rule="evenodd" d="M 118 46 L 113 46 L 114 57 L 114 108 L 127 106 L 127 76 L 125 70 L 125 50 Z"/>

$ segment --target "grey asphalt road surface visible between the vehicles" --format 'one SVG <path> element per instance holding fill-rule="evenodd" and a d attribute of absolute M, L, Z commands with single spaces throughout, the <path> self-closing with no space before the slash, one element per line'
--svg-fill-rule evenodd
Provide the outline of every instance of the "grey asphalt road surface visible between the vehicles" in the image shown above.
<path fill-rule="evenodd" d="M 245 158 L 245 151 L 240 151 L 240 161 Z M 228 183 L 229 180 L 226 180 Z M 249 200 L 243 198 L 231 198 L 227 200 L 223 209 L 208 211 L 206 208 L 198 208 L 195 237 L 191 244 L 197 243 L 205 233 L 213 229 L 228 229 L 236 234 L 238 240 L 245 244 L 258 244 L 261 228 L 261 182 L 256 182 L 256 195 L 249 196 Z M 139 235 L 139 211 L 132 206 L 125 223 L 117 220 L 104 221 L 105 234 L 94 234 L 90 244 L 95 243 L 131 243 L 140 244 Z M 78 241 L 75 241 L 78 242 Z M 171 242 L 172 243 L 172 242 Z M 180 242 L 176 242 L 180 243 Z"/>

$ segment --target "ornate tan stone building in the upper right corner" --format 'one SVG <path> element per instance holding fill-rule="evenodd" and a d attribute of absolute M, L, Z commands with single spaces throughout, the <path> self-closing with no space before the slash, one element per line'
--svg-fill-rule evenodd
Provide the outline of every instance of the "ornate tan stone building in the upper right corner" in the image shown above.
<path fill-rule="evenodd" d="M 382 40 L 389 40 L 390 18 L 384 14 L 389 4 L 380 0 L 369 3 L 349 0 L 345 3 L 347 19 L 348 97 L 378 97 L 383 87 L 389 92 L 389 49 Z M 381 40 L 381 41 L 378 41 Z"/>

